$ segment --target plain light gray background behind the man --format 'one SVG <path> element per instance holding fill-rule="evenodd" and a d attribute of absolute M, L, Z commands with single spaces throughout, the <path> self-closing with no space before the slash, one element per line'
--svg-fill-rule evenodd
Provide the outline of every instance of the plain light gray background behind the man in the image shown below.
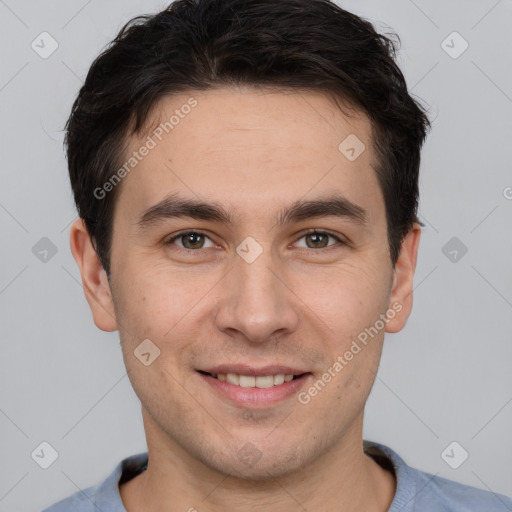
<path fill-rule="evenodd" d="M 400 34 L 399 63 L 435 118 L 414 309 L 386 336 L 365 438 L 424 471 L 512 495 L 512 2 L 340 4 Z M 118 334 L 94 326 L 69 250 L 76 212 L 61 130 L 102 47 L 164 5 L 0 0 L 0 512 L 40 510 L 146 449 Z M 43 31 L 59 45 L 46 59 L 31 48 Z M 453 31 L 469 43 L 458 58 L 445 49 L 458 53 L 462 40 L 442 46 Z M 57 250 L 46 261 L 43 237 Z M 31 457 L 43 441 L 58 452 L 46 470 Z M 458 469 L 441 455 L 453 441 L 469 453 Z"/>

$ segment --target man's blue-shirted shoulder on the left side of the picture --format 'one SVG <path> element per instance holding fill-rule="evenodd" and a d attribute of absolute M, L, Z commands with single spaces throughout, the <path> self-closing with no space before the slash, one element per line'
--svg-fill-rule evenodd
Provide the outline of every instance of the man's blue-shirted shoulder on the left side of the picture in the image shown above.
<path fill-rule="evenodd" d="M 80 490 L 45 508 L 42 512 L 126 512 L 119 494 L 119 482 L 127 481 L 147 465 L 148 454 L 123 459 L 102 483 Z"/>

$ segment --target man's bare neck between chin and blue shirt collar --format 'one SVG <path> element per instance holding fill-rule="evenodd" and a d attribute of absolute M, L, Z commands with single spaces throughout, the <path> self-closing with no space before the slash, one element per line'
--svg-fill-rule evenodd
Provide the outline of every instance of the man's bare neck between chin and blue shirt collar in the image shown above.
<path fill-rule="evenodd" d="M 263 506 L 273 512 L 386 512 L 396 491 L 395 476 L 363 452 L 362 414 L 355 423 L 334 448 L 300 471 L 259 480 L 221 473 L 179 444 L 169 446 L 168 437 L 165 443 L 151 443 L 159 436 L 147 435 L 148 468 L 120 486 L 121 499 L 127 512 L 249 512 Z"/>

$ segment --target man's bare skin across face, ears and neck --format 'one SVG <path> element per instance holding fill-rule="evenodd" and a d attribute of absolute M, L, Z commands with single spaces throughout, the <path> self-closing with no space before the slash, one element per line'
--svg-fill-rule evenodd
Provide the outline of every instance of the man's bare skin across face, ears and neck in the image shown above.
<path fill-rule="evenodd" d="M 400 331 L 411 311 L 421 228 L 412 227 L 393 267 L 364 115 L 348 117 L 317 92 L 221 88 L 163 99 L 152 126 L 190 96 L 197 106 L 119 185 L 110 282 L 83 222 L 71 228 L 94 321 L 119 330 L 142 404 L 150 462 L 120 487 L 125 507 L 386 511 L 396 480 L 363 452 L 363 412 L 384 332 Z M 127 155 L 149 133 L 132 137 Z M 366 145 L 353 162 L 338 150 L 349 134 Z M 364 208 L 367 225 L 340 217 L 277 225 L 292 202 L 333 192 Z M 138 229 L 142 213 L 172 193 L 216 201 L 236 223 L 183 217 Z M 346 243 L 312 240 L 313 228 Z M 206 237 L 188 252 L 186 239 L 165 244 L 192 229 Z M 251 264 L 236 252 L 248 236 L 263 249 Z M 312 373 L 307 390 L 393 304 L 401 311 L 306 405 L 292 396 L 236 407 L 195 371 L 286 364 Z M 160 349 L 149 366 L 133 353 L 146 338 Z M 253 465 L 237 453 L 247 442 L 261 452 Z"/>

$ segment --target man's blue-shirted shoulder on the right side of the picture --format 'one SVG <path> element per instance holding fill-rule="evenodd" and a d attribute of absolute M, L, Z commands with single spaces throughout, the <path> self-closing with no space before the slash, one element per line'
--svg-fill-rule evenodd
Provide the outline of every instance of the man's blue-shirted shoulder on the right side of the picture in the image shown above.
<path fill-rule="evenodd" d="M 395 472 L 397 489 L 389 512 L 512 512 L 512 499 L 503 494 L 412 468 L 380 443 L 365 441 L 364 446 L 368 455 Z"/>

